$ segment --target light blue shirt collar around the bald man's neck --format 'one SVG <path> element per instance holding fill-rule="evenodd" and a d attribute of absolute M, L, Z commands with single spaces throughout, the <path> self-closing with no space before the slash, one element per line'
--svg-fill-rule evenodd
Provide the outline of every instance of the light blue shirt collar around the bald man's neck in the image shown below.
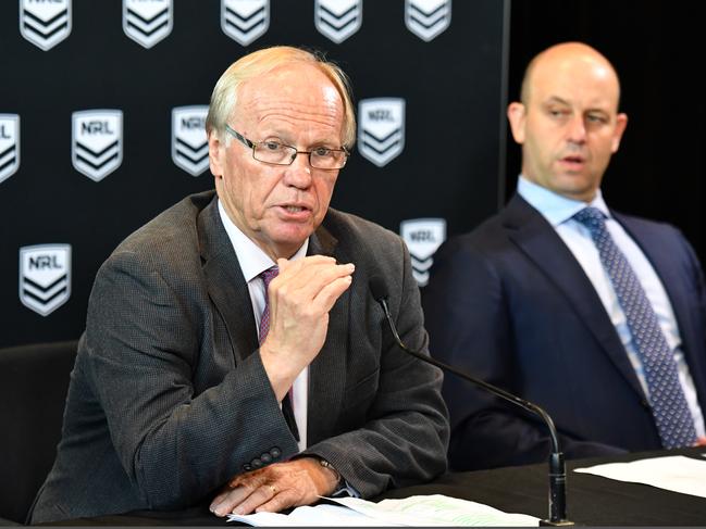
<path fill-rule="evenodd" d="M 586 204 L 581 200 L 573 200 L 555 193 L 520 175 L 517 182 L 517 192 L 555 228 L 569 221 L 586 206 L 597 207 L 606 217 L 610 218 L 610 212 L 606 202 L 603 200 L 600 189 L 596 190 L 594 199 L 591 203 Z"/>

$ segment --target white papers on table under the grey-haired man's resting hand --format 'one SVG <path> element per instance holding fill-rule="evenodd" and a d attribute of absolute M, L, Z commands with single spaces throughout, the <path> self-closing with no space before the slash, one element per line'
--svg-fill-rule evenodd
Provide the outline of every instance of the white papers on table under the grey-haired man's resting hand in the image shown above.
<path fill-rule="evenodd" d="M 484 526 L 536 527 L 538 518 L 507 514 L 488 505 L 458 500 L 442 494 L 383 500 L 373 503 L 358 497 L 326 497 L 339 505 L 321 504 L 297 507 L 290 514 L 257 513 L 228 515 L 228 521 L 251 526 Z"/>

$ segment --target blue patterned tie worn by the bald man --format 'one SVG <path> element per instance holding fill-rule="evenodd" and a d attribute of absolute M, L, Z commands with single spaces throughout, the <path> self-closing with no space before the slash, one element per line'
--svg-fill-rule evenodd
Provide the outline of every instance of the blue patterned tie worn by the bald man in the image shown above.
<path fill-rule="evenodd" d="M 600 263 L 608 273 L 626 313 L 628 327 L 645 370 L 652 413 L 662 446 L 676 449 L 694 445 L 694 419 L 679 382 L 677 363 L 637 276 L 608 234 L 600 210 L 585 207 L 573 218 L 591 231 Z"/>

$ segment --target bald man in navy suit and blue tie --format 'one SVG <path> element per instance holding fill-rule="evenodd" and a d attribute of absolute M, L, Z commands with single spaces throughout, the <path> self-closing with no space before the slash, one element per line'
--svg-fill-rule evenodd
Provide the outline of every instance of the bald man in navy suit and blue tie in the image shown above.
<path fill-rule="evenodd" d="M 619 214 L 600 192 L 628 123 L 619 100 L 595 49 L 536 55 L 507 112 L 517 193 L 439 249 L 422 294 L 432 354 L 543 406 L 568 457 L 705 441 L 701 266 L 677 229 Z M 546 459 L 536 417 L 455 377 L 444 396 L 453 468 Z"/>

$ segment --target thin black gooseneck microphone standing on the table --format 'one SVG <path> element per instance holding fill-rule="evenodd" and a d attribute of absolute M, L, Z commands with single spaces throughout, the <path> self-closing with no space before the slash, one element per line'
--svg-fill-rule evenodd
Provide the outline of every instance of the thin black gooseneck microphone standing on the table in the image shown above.
<path fill-rule="evenodd" d="M 485 391 L 493 393 L 496 396 L 499 396 L 500 399 L 511 402 L 512 404 L 520 406 L 522 410 L 525 410 L 534 415 L 538 415 L 542 418 L 542 420 L 546 424 L 547 429 L 549 430 L 549 437 L 552 439 L 552 451 L 549 453 L 549 519 L 541 520 L 540 525 L 555 526 L 555 527 L 573 526 L 573 521 L 567 519 L 567 502 L 566 502 L 567 473 L 566 473 L 566 465 L 563 463 L 563 454 L 559 450 L 559 439 L 557 436 L 557 430 L 554 426 L 554 420 L 552 420 L 552 417 L 549 417 L 549 414 L 547 414 L 538 405 L 525 401 L 524 399 L 520 399 L 519 396 L 513 395 L 512 393 L 505 391 L 504 389 L 500 389 L 497 386 L 493 386 L 492 383 L 474 378 L 457 369 L 456 367 L 453 367 L 448 364 L 444 364 L 443 362 L 439 362 L 431 356 L 422 354 L 419 351 L 412 351 L 411 349 L 409 349 L 407 345 L 405 345 L 401 338 L 399 338 L 399 335 L 397 333 L 397 327 L 395 326 L 395 322 L 393 322 L 393 318 L 389 314 L 389 308 L 387 307 L 388 294 L 387 294 L 387 287 L 385 286 L 385 281 L 380 276 L 372 276 L 370 278 L 369 286 L 373 299 L 377 303 L 380 303 L 380 305 L 383 308 L 383 312 L 385 313 L 387 325 L 389 326 L 389 330 L 392 330 L 393 337 L 395 338 L 395 342 L 397 343 L 397 347 L 399 349 L 405 351 L 407 354 L 410 354 L 416 358 L 421 360 L 422 362 L 426 362 L 428 364 L 436 366 L 442 370 L 453 373 L 457 377 L 460 377 L 463 380 L 467 380 L 473 383 L 474 386 L 482 388 Z"/>

